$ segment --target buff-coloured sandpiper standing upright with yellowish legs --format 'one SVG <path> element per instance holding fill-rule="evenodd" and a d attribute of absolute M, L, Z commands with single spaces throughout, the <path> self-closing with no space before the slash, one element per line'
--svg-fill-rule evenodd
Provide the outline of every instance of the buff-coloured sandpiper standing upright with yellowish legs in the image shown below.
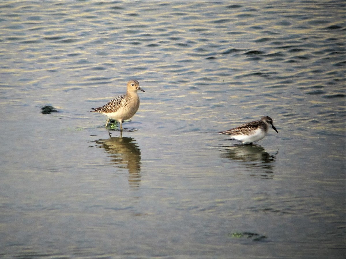
<path fill-rule="evenodd" d="M 127 82 L 126 94 L 120 95 L 111 99 L 107 104 L 98 108 L 91 108 L 90 112 L 102 113 L 108 117 L 106 127 L 110 119 L 113 119 L 120 124 L 120 131 L 122 131 L 122 122 L 135 115 L 139 107 L 139 96 L 137 91 L 141 90 L 137 80 L 130 80 Z"/>

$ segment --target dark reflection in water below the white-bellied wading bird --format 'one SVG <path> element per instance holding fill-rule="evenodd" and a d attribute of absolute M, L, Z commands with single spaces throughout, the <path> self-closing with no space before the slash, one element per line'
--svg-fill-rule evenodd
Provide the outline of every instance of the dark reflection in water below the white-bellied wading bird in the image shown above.
<path fill-rule="evenodd" d="M 239 144 L 221 150 L 221 157 L 242 162 L 246 168 L 254 169 L 252 176 L 267 179 L 273 177 L 273 162 L 275 162 L 276 154 L 270 155 L 262 146 L 257 145 Z"/>

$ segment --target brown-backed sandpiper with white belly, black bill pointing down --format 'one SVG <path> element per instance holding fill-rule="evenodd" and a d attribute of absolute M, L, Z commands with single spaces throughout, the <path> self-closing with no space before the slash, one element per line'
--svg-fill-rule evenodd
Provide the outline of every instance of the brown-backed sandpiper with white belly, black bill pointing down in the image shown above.
<path fill-rule="evenodd" d="M 267 135 L 269 125 L 277 132 L 272 118 L 264 116 L 260 121 L 249 122 L 228 131 L 221 131 L 219 134 L 230 135 L 234 139 L 243 142 L 243 144 L 252 144 L 255 141 L 262 140 Z"/>

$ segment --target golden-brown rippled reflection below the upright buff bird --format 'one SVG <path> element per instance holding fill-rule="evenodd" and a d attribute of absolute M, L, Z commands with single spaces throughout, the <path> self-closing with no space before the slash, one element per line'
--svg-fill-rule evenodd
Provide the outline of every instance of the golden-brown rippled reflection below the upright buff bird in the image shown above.
<path fill-rule="evenodd" d="M 131 187 L 138 188 L 140 183 L 140 149 L 131 137 L 110 137 L 105 140 L 96 140 L 95 143 L 103 147 L 111 162 L 118 167 L 127 168 L 129 171 L 128 181 Z"/>

